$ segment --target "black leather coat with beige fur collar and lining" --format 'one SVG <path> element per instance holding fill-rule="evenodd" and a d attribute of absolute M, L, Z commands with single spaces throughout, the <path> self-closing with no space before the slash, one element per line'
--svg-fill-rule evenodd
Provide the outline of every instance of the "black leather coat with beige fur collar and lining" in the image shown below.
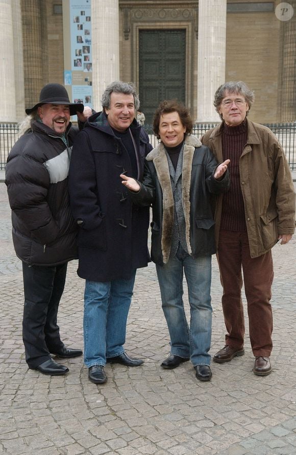
<path fill-rule="evenodd" d="M 182 206 L 186 222 L 186 243 L 189 254 L 215 253 L 213 195 L 228 191 L 228 171 L 220 181 L 213 177 L 216 159 L 208 147 L 193 136 L 185 140 L 182 167 Z M 169 168 L 163 144 L 146 157 L 143 183 L 131 198 L 140 205 L 152 204 L 153 220 L 151 258 L 157 264 L 168 261 L 174 223 Z"/>

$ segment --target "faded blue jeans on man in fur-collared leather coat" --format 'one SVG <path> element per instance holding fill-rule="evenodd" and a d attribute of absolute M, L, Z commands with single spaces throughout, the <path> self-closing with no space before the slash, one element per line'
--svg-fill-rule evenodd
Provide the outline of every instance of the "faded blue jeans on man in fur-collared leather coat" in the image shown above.
<path fill-rule="evenodd" d="M 196 365 L 210 365 L 211 346 L 211 256 L 193 259 L 180 254 L 156 265 L 162 309 L 170 336 L 170 353 L 190 360 Z M 185 252 L 183 252 L 185 253 Z M 183 303 L 183 270 L 188 286 L 190 327 Z"/>

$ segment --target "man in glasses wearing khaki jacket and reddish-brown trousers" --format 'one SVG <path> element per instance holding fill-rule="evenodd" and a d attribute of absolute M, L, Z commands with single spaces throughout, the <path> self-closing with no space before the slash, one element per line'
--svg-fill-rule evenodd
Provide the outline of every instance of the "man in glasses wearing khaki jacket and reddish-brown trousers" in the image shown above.
<path fill-rule="evenodd" d="M 254 102 L 244 82 L 226 82 L 214 98 L 222 123 L 202 138 L 219 163 L 230 159 L 230 191 L 218 196 L 215 236 L 223 285 L 226 346 L 214 361 L 244 354 L 242 274 L 248 302 L 253 372 L 272 371 L 274 278 L 272 247 L 286 244 L 295 229 L 295 193 L 284 150 L 272 131 L 246 118 Z"/>

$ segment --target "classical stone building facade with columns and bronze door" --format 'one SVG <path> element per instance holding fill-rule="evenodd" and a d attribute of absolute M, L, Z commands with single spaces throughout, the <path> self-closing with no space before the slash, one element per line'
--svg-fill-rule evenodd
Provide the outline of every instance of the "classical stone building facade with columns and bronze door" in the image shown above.
<path fill-rule="evenodd" d="M 109 82 L 133 81 L 148 122 L 167 98 L 183 101 L 197 122 L 218 121 L 216 88 L 243 80 L 255 91 L 253 120 L 293 122 L 295 3 L 285 11 L 279 0 L 91 0 L 92 74 L 81 69 L 76 80 L 92 86 L 96 110 Z M 44 84 L 65 83 L 70 4 L 0 0 L 0 122 L 19 121 Z"/>

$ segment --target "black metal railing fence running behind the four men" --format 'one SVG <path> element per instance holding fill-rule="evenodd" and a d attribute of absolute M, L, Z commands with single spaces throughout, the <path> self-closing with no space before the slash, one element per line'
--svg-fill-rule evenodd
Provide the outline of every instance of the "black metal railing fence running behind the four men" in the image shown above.
<path fill-rule="evenodd" d="M 193 134 L 201 137 L 207 130 L 216 124 L 199 123 L 193 127 Z M 269 123 L 265 124 L 270 128 L 285 151 L 290 169 L 296 170 L 296 123 Z M 144 129 L 149 135 L 151 144 L 155 147 L 158 141 L 153 133 L 152 125 L 145 124 Z M 5 169 L 9 151 L 18 139 L 17 123 L 0 123 L 0 170 Z"/>

